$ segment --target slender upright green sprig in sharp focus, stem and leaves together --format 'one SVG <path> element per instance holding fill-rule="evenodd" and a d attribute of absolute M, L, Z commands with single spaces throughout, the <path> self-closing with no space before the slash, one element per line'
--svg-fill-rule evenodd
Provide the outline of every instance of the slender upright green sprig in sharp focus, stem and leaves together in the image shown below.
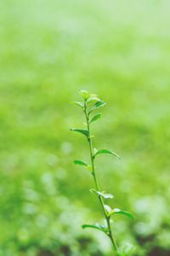
<path fill-rule="evenodd" d="M 112 230 L 111 230 L 111 217 L 114 217 L 116 214 L 123 214 L 126 215 L 128 218 L 133 218 L 133 215 L 130 212 L 123 211 L 118 208 L 112 209 L 110 206 L 105 204 L 105 200 L 107 199 L 112 199 L 113 195 L 105 193 L 105 191 L 101 191 L 100 185 L 99 185 L 99 180 L 96 175 L 96 170 L 95 170 L 95 160 L 96 157 L 99 154 L 112 154 L 118 158 L 120 156 L 111 150 L 108 149 L 99 149 L 97 150 L 94 148 L 93 145 L 93 139 L 94 136 L 91 134 L 91 125 L 94 121 L 97 121 L 98 119 L 101 118 L 101 113 L 95 113 L 93 117 L 91 117 L 92 113 L 95 112 L 95 110 L 98 110 L 99 108 L 102 108 L 105 106 L 105 102 L 101 101 L 98 96 L 94 94 L 88 93 L 86 90 L 81 90 L 80 94 L 82 95 L 83 102 L 73 102 L 80 108 L 82 108 L 82 111 L 85 115 L 86 119 L 86 129 L 76 129 L 76 128 L 71 128 L 71 131 L 76 131 L 87 137 L 88 139 L 88 146 L 89 146 L 89 154 L 90 154 L 90 165 L 88 165 L 85 161 L 83 160 L 74 160 L 74 163 L 76 165 L 80 166 L 85 166 L 88 168 L 88 170 L 91 171 L 92 176 L 94 177 L 94 184 L 95 184 L 95 189 L 90 189 L 90 192 L 94 193 L 95 195 L 98 196 L 99 198 L 99 203 L 101 205 L 104 217 L 105 217 L 105 224 L 100 225 L 100 224 L 83 224 L 82 228 L 92 228 L 96 230 L 100 230 L 105 233 L 106 236 L 109 236 L 111 239 L 111 243 L 113 246 L 114 251 L 116 252 L 117 255 L 125 255 L 124 253 L 121 253 L 121 251 L 118 250 L 118 247 L 116 245 L 115 237 L 113 236 Z"/>

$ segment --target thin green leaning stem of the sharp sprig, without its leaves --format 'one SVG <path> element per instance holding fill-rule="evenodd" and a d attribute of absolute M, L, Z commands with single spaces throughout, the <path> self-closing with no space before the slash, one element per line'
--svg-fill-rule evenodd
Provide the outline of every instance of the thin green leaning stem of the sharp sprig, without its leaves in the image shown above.
<path fill-rule="evenodd" d="M 95 166 L 94 166 L 94 147 L 93 147 L 93 141 L 92 141 L 92 137 L 91 137 L 91 131 L 90 131 L 90 124 L 89 124 L 89 117 L 88 117 L 87 103 L 86 102 L 84 102 L 84 113 L 85 113 L 85 116 L 86 116 L 87 127 L 88 127 L 88 144 L 89 144 L 89 151 L 90 151 L 90 160 L 91 160 L 91 165 L 92 165 L 92 175 L 94 177 L 95 189 L 97 191 L 100 191 L 99 181 L 98 181 L 98 178 L 96 177 Z M 110 217 L 108 216 L 108 214 L 105 210 L 105 204 L 104 204 L 103 198 L 100 195 L 98 196 L 98 198 L 99 198 L 100 205 L 101 205 L 102 210 L 103 210 L 104 215 L 105 215 L 105 220 L 106 220 L 107 229 L 108 229 L 107 236 L 110 237 L 112 246 L 117 251 L 116 241 L 115 241 L 115 239 L 112 235 L 112 231 L 111 231 L 111 219 L 110 219 Z"/>

